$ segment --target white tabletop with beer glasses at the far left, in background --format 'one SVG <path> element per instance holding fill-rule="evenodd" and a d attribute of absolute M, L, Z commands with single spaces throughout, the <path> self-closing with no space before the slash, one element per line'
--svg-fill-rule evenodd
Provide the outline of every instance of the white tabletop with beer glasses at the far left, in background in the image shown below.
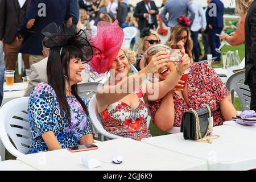
<path fill-rule="evenodd" d="M 19 88 L 23 88 L 23 82 L 15 83 L 14 85 L 18 86 Z M 3 88 L 5 87 L 6 87 L 6 84 L 3 84 Z M 15 98 L 23 97 L 24 93 L 25 93 L 24 90 L 3 92 L 2 105 L 6 104 L 11 100 L 14 100 Z"/>

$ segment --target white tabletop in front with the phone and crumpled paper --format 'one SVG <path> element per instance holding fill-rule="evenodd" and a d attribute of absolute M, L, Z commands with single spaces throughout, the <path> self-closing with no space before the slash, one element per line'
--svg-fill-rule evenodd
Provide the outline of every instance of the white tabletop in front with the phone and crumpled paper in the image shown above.
<path fill-rule="evenodd" d="M 114 139 L 97 143 L 97 150 L 70 152 L 67 149 L 23 155 L 17 158 L 39 170 L 207 170 L 205 160 L 178 154 L 132 139 Z M 93 156 L 101 166 L 89 169 L 82 164 L 84 155 Z M 106 163 L 123 155 L 121 164 Z"/>

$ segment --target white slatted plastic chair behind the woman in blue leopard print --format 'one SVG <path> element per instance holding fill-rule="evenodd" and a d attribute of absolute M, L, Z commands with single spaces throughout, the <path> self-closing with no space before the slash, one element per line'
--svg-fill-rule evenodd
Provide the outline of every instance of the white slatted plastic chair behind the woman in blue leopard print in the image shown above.
<path fill-rule="evenodd" d="M 15 157 L 26 154 L 31 145 L 27 107 L 28 97 L 21 97 L 7 102 L 0 109 L 0 138 Z"/>

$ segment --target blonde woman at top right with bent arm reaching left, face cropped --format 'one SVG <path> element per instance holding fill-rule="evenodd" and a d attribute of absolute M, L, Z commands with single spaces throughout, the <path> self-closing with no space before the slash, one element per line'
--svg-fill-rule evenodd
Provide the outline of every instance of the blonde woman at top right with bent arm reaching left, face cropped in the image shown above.
<path fill-rule="evenodd" d="M 245 42 L 245 18 L 253 0 L 236 0 L 236 12 L 241 16 L 241 22 L 236 31 L 231 34 L 222 34 L 221 39 L 226 40 L 231 46 L 238 46 Z"/>

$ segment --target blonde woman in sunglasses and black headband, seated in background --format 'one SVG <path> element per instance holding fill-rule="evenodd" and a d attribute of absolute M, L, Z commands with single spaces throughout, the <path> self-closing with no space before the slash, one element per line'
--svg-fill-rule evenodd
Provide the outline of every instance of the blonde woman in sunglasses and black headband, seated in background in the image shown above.
<path fill-rule="evenodd" d="M 144 53 L 147 49 L 155 44 L 160 44 L 161 40 L 156 33 L 156 31 L 146 27 L 143 28 L 141 34 L 139 35 L 139 45 L 137 50 L 137 60 L 135 63 L 135 67 L 140 71 L 144 68 Z"/>

